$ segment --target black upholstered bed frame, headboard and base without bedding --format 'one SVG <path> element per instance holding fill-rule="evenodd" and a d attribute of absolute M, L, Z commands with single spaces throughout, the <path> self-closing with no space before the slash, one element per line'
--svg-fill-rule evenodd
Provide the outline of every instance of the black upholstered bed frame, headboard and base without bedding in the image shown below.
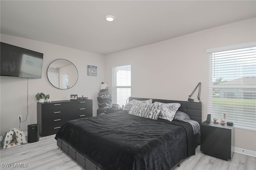
<path fill-rule="evenodd" d="M 136 100 L 148 100 L 146 98 L 138 98 L 138 97 L 129 97 L 129 101 L 133 99 Z M 202 115 L 203 115 L 203 105 L 201 102 L 188 102 L 188 101 L 174 101 L 174 100 L 162 100 L 162 99 L 153 99 L 154 102 L 162 102 L 162 103 L 180 103 L 180 108 L 178 111 L 182 111 L 187 113 L 190 119 L 194 121 L 198 121 L 199 124 L 202 123 Z M 200 135 L 196 134 L 194 136 L 195 148 L 200 145 Z M 86 170 L 101 170 L 97 165 L 92 163 L 88 158 L 84 157 L 82 154 L 77 152 L 71 145 L 67 144 L 63 140 L 57 139 L 57 146 L 59 149 L 62 149 L 68 156 L 70 156 L 73 160 L 75 160 L 82 168 Z M 177 164 L 180 166 L 180 162 Z M 175 166 L 174 166 L 175 167 Z"/>

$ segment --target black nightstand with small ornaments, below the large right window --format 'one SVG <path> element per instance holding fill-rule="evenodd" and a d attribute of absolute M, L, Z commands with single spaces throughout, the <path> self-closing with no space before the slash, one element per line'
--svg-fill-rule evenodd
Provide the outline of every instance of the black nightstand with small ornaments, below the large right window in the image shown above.
<path fill-rule="evenodd" d="M 231 160 L 234 153 L 234 126 L 203 122 L 200 149 L 206 155 Z"/>

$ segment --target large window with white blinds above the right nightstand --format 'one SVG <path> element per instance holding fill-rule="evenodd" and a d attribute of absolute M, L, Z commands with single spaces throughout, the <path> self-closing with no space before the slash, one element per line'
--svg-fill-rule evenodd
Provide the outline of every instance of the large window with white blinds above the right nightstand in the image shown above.
<path fill-rule="evenodd" d="M 208 49 L 209 99 L 212 117 L 256 128 L 256 43 Z M 246 47 L 247 46 L 247 47 Z"/>

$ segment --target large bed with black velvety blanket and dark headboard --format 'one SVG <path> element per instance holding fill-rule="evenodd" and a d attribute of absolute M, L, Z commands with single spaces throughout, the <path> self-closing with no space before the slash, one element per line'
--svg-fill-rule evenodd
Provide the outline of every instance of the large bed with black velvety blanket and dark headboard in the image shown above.
<path fill-rule="evenodd" d="M 199 127 L 202 123 L 201 102 L 130 97 L 129 103 L 148 100 L 161 106 L 180 103 L 179 112 Z M 195 154 L 200 131 L 191 123 L 148 119 L 130 111 L 69 121 L 55 136 L 57 146 L 86 170 L 170 170 Z"/>

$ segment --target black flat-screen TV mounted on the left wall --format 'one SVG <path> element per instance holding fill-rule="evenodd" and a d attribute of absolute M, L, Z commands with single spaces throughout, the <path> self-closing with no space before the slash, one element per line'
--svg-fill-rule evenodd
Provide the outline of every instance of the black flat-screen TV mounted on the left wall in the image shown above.
<path fill-rule="evenodd" d="M 43 53 L 0 44 L 1 76 L 41 78 Z"/>

